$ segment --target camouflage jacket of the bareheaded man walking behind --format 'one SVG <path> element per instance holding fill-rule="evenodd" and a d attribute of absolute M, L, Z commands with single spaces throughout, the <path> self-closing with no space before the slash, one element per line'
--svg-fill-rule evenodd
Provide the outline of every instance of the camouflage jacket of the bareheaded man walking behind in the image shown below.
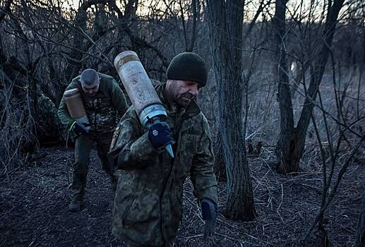
<path fill-rule="evenodd" d="M 91 125 L 90 134 L 113 133 L 116 123 L 118 123 L 120 117 L 128 109 L 126 98 L 112 76 L 107 76 L 102 73 L 99 73 L 99 76 L 100 88 L 93 97 L 89 97 L 83 92 L 80 76 L 74 78 L 66 88 L 66 90 L 78 88 L 81 92 L 85 111 Z M 59 104 L 58 115 L 64 124 L 68 125 L 73 120 L 70 114 L 68 114 L 64 97 L 62 97 L 61 103 Z"/>

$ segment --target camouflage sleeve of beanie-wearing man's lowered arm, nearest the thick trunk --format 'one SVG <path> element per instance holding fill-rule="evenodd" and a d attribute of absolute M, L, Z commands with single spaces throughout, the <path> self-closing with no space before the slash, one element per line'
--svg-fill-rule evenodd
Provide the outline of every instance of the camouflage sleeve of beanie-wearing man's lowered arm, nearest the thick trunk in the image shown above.
<path fill-rule="evenodd" d="M 213 171 L 214 155 L 208 121 L 203 117 L 203 133 L 198 140 L 196 154 L 193 156 L 190 176 L 194 195 L 198 200 L 210 199 L 217 203 L 217 179 Z"/>

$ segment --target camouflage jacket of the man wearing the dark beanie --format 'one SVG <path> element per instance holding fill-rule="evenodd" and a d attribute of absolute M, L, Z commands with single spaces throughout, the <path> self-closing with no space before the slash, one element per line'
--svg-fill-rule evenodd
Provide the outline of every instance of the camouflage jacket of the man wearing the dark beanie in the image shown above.
<path fill-rule="evenodd" d="M 157 86 L 176 143 L 175 158 L 155 150 L 133 106 L 119 123 L 109 161 L 121 169 L 114 198 L 113 234 L 126 243 L 167 246 L 176 237 L 182 217 L 183 184 L 190 174 L 198 200 L 217 202 L 217 181 L 208 121 L 192 102 L 180 111 Z"/>

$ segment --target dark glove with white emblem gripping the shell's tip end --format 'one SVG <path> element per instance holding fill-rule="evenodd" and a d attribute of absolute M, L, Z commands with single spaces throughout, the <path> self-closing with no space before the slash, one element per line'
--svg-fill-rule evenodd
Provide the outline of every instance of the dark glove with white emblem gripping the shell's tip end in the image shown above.
<path fill-rule="evenodd" d="M 148 139 L 150 139 L 155 149 L 174 142 L 171 137 L 170 127 L 165 122 L 153 123 L 148 131 Z"/>

